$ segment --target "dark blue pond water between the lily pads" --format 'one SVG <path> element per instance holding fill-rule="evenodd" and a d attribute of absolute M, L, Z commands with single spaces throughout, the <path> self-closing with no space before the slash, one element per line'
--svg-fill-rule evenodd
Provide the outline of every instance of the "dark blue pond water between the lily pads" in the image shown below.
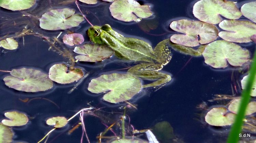
<path fill-rule="evenodd" d="M 52 0 L 54 2 L 54 0 Z M 173 20 L 182 18 L 196 19 L 192 14 L 192 6 L 196 1 L 190 0 L 142 0 L 144 4 L 151 5 L 151 10 L 154 12 L 153 17 L 159 21 L 157 29 L 150 31 L 150 34 L 143 32 L 137 23 L 122 22 L 111 17 L 109 12 L 110 3 L 99 1 L 96 5 L 81 4 L 83 12 L 89 12 L 87 18 L 95 25 L 110 24 L 112 28 L 128 37 L 136 36 L 143 37 L 144 40 L 156 46 L 158 42 L 169 38 L 174 31 L 169 28 L 169 24 Z M 246 1 L 247 2 L 247 1 Z M 48 7 L 46 1 L 37 1 L 37 6 L 28 10 L 28 13 L 33 13 L 37 16 L 42 15 Z M 239 8 L 243 1 L 238 2 Z M 44 7 L 47 6 L 47 7 Z M 52 8 L 62 8 L 63 5 L 54 5 Z M 67 4 L 69 8 L 77 10 L 74 3 Z M 59 32 L 48 32 L 39 28 L 38 23 L 29 21 L 29 18 L 24 17 L 23 24 L 14 25 L 14 21 L 19 23 L 23 21 L 20 18 L 22 14 L 19 12 L 11 12 L 0 9 L 0 37 L 9 32 L 20 32 L 24 26 L 29 24 L 30 28 L 46 34 L 47 36 L 57 36 Z M 98 20 L 98 19 L 99 20 Z M 14 20 L 13 20 L 14 19 Z M 8 22 L 8 20 L 12 22 Z M 7 26 L 3 22 L 9 23 Z M 85 37 L 85 42 L 89 41 L 86 30 L 89 28 L 87 22 L 82 22 L 80 26 L 70 29 L 73 32 L 82 33 Z M 66 34 L 67 31 L 62 31 Z M 163 34 L 166 33 L 166 34 Z M 10 33 L 14 34 L 14 33 Z M 63 36 L 62 34 L 62 36 Z M 161 36 L 156 36 L 156 35 Z M 25 46 L 23 46 L 23 39 L 19 38 L 19 48 L 14 51 L 0 50 L 0 69 L 12 70 L 20 67 L 34 67 L 48 72 L 49 68 L 56 63 L 67 63 L 67 59 L 58 55 L 56 52 L 48 51 L 49 45 L 39 37 L 25 36 Z M 254 44 L 242 44 L 253 52 Z M 67 47 L 72 51 L 73 49 Z M 225 142 L 228 134 L 228 128 L 214 128 L 207 125 L 200 114 L 205 113 L 204 110 L 199 110 L 197 105 L 203 101 L 213 99 L 214 94 L 232 95 L 231 90 L 231 73 L 237 70 L 231 66 L 225 69 L 213 69 L 204 63 L 203 57 L 193 57 L 180 54 L 172 51 L 173 57 L 168 65 L 162 70 L 172 74 L 172 80 L 169 84 L 162 87 L 156 92 L 151 90 L 142 91 L 130 102 L 137 104 L 138 110 L 127 112 L 130 117 L 130 124 L 136 129 L 148 129 L 161 121 L 168 121 L 173 127 L 177 138 L 189 143 L 211 143 L 211 142 Z M 114 62 L 115 58 L 105 60 L 97 64 L 89 64 L 86 62 L 78 62 L 77 67 L 90 71 L 91 74 L 78 86 L 77 90 L 72 94 L 67 92 L 74 86 L 74 84 L 59 85 L 54 84 L 54 88 L 46 92 L 40 93 L 25 93 L 10 89 L 4 85 L 3 78 L 8 73 L 0 72 L 0 104 L 1 117 L 9 110 L 19 110 L 27 113 L 29 117 L 33 118 L 29 123 L 22 127 L 14 127 L 15 140 L 27 141 L 29 143 L 39 141 L 52 127 L 45 124 L 45 120 L 52 116 L 71 117 L 76 111 L 88 107 L 90 102 L 96 108 L 105 107 L 104 111 L 121 112 L 111 114 L 105 113 L 106 117 L 117 120 L 123 110 L 119 109 L 124 104 L 109 104 L 101 100 L 103 94 L 92 94 L 87 90 L 88 83 L 91 79 L 98 77 L 103 73 L 110 73 L 109 71 L 122 69 L 120 63 Z M 186 64 L 186 65 L 185 65 Z M 125 72 L 125 71 L 124 71 Z M 242 78 L 241 74 L 236 76 L 237 80 Z M 240 91 L 240 90 L 239 90 Z M 29 98 L 34 99 L 29 103 L 24 103 L 20 99 Z M 46 98 L 56 103 L 59 108 L 40 98 Z M 220 103 L 221 104 L 221 103 Z M 208 106 L 216 105 L 209 103 Z M 203 114 L 204 115 L 204 114 Z M 77 143 L 80 142 L 82 129 L 81 127 L 75 130 L 71 135 L 67 135 L 67 131 L 72 125 L 76 124 L 79 118 L 76 117 L 64 128 L 55 130 L 48 139 L 48 142 L 53 143 Z M 97 142 L 96 136 L 105 130 L 104 125 L 98 118 L 87 116 L 85 117 L 85 125 L 87 133 L 91 142 Z M 108 134 L 112 136 L 112 134 Z M 84 142 L 86 139 L 84 138 Z"/>

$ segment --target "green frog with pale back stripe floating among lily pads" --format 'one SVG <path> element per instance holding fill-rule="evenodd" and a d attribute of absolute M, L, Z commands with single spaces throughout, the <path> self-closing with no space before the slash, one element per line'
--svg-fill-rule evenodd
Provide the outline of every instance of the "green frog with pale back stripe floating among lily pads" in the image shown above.
<path fill-rule="evenodd" d="M 109 24 L 90 27 L 88 36 L 93 43 L 108 45 L 116 57 L 139 63 L 131 67 L 127 73 L 139 78 L 155 80 L 150 84 L 143 85 L 143 88 L 159 89 L 171 80 L 169 74 L 159 71 L 171 59 L 171 51 L 168 48 L 170 39 L 159 42 L 153 49 L 143 40 L 124 37 L 114 31 Z"/>

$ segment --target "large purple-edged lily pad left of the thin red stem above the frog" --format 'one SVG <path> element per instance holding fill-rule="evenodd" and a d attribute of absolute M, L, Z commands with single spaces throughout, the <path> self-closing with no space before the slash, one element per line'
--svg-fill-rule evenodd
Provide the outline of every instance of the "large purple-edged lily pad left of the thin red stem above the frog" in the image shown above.
<path fill-rule="evenodd" d="M 75 10 L 62 8 L 44 13 L 39 19 L 40 27 L 45 30 L 64 30 L 78 26 L 83 16 L 75 14 Z"/>

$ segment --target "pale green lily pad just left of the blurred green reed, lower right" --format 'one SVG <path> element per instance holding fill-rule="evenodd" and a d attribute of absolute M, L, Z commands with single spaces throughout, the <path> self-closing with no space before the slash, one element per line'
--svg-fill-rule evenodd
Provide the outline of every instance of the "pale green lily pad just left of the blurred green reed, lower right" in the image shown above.
<path fill-rule="evenodd" d="M 205 121 L 212 126 L 228 126 L 233 124 L 236 114 L 227 113 L 223 107 L 212 108 L 205 116 Z"/>

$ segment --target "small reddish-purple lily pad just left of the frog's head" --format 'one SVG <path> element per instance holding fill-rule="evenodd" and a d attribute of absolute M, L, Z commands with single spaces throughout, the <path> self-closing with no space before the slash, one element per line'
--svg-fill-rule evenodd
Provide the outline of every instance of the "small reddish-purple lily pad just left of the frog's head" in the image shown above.
<path fill-rule="evenodd" d="M 84 41 L 83 35 L 79 33 L 66 34 L 63 36 L 62 39 L 63 39 L 63 43 L 69 46 L 81 44 Z"/>

